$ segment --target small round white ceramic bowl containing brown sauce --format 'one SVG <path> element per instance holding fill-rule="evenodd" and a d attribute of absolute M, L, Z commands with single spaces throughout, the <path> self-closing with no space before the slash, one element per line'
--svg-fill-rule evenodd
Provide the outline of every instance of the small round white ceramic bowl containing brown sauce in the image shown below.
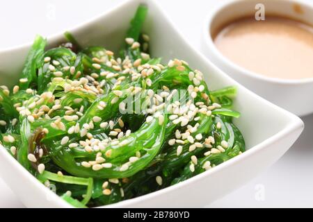
<path fill-rule="evenodd" d="M 307 1 L 308 2 L 308 1 Z M 298 80 L 270 78 L 236 65 L 216 48 L 211 32 L 243 16 L 255 15 L 255 5 L 263 3 L 266 15 L 282 15 L 313 25 L 313 3 L 294 0 L 241 0 L 227 1 L 216 6 L 208 15 L 202 30 L 202 51 L 220 69 L 253 92 L 282 108 L 303 116 L 313 112 L 313 77 Z M 295 8 L 300 8 L 301 13 Z M 271 53 L 271 52 L 268 52 Z M 291 52 L 292 53 L 292 52 Z M 312 58 L 313 61 L 313 58 Z M 313 76 L 313 70 L 312 70 Z"/>

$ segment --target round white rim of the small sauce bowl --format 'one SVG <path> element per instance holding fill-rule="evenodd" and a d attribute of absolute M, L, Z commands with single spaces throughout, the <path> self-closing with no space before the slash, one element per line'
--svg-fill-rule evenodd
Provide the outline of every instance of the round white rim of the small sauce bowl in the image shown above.
<path fill-rule="evenodd" d="M 214 18 L 220 13 L 221 10 L 225 9 L 227 6 L 232 6 L 236 3 L 241 2 L 248 2 L 248 0 L 230 0 L 223 3 L 218 3 L 210 13 L 207 15 L 207 17 L 204 19 L 204 23 L 202 26 L 202 39 L 204 40 L 205 47 L 209 49 L 214 56 L 216 56 L 217 60 L 220 60 L 220 62 L 223 64 L 223 66 L 230 67 L 236 73 L 243 75 L 245 77 L 255 78 L 256 80 L 262 80 L 264 82 L 268 83 L 278 83 L 282 85 L 303 85 L 307 83 L 313 83 L 313 77 L 312 78 L 300 78 L 300 79 L 283 79 L 283 78 L 275 78 L 275 77 L 268 77 L 264 76 L 262 74 L 259 74 L 255 71 L 250 71 L 246 68 L 241 67 L 240 65 L 237 65 L 235 62 L 230 60 L 229 58 L 225 57 L 216 47 L 214 44 L 214 41 L 212 39 L 210 30 L 211 30 L 211 24 L 214 21 Z M 276 1 L 282 1 L 282 0 L 276 0 Z M 289 3 L 297 3 L 300 4 L 300 6 L 303 6 L 305 8 L 310 8 L 313 10 L 313 4 L 309 4 L 303 1 L 297 1 L 297 0 L 283 0 L 283 1 L 289 1 Z"/>

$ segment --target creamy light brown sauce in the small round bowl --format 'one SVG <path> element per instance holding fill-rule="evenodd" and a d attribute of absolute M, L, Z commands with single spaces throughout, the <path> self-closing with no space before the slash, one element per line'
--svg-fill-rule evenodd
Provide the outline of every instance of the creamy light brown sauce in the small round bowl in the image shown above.
<path fill-rule="evenodd" d="M 224 26 L 214 43 L 237 65 L 274 78 L 313 78 L 313 28 L 282 17 L 243 18 Z"/>

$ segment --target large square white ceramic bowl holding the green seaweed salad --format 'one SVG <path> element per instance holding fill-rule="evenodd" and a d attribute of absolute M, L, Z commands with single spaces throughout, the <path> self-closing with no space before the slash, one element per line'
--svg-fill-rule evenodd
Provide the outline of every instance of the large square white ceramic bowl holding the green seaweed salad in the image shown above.
<path fill-rule="evenodd" d="M 302 132 L 303 121 L 239 85 L 195 51 L 155 1 L 127 1 L 70 31 L 84 46 L 100 44 L 108 49 L 118 49 L 129 26 L 129 19 L 141 2 L 149 7 L 144 29 L 150 34 L 153 56 L 161 56 L 166 62 L 170 58 L 188 61 L 191 67 L 203 71 L 211 89 L 228 85 L 238 87 L 234 108 L 242 115 L 235 122 L 246 138 L 248 151 L 178 185 L 107 207 L 202 207 L 248 182 L 278 160 Z M 63 40 L 63 35 L 48 40 L 49 45 L 53 46 Z M 1 71 L 1 84 L 17 81 L 30 45 L 0 52 L 0 67 L 5 71 Z M 27 207 L 70 207 L 1 147 L 0 173 Z"/>

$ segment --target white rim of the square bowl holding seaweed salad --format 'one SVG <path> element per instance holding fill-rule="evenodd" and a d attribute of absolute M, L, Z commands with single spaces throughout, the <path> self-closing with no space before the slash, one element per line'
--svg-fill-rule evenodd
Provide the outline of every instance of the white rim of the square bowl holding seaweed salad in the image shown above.
<path fill-rule="evenodd" d="M 136 198 L 131 198 L 129 200 L 122 200 L 118 203 L 113 203 L 110 205 L 102 205 L 99 207 L 130 207 L 131 203 L 139 203 L 143 200 L 153 198 L 154 196 L 158 196 L 160 194 L 166 194 L 167 192 L 170 192 L 173 189 L 179 189 L 179 187 L 184 187 L 184 186 L 190 185 L 191 183 L 197 182 L 197 181 L 201 180 L 202 178 L 209 176 L 212 173 L 222 171 L 226 167 L 229 167 L 230 165 L 235 164 L 236 162 L 239 162 L 243 159 L 248 158 L 250 155 L 254 155 L 255 153 L 258 153 L 259 151 L 262 151 L 262 149 L 265 148 L 268 144 L 273 144 L 273 142 L 284 138 L 286 135 L 288 135 L 288 133 L 291 133 L 294 130 L 301 129 L 301 131 L 302 131 L 302 129 L 304 127 L 303 121 L 299 117 L 297 117 L 295 114 L 292 114 L 291 112 L 288 112 L 287 110 L 284 110 L 284 109 L 278 107 L 277 105 L 267 101 L 266 99 L 263 99 L 261 96 L 258 96 L 257 94 L 251 92 L 249 89 L 247 89 L 246 87 L 244 87 L 243 85 L 238 83 L 236 80 L 232 79 L 230 76 L 225 74 L 224 71 L 222 71 L 218 67 L 216 67 L 216 65 L 214 65 L 214 63 L 212 63 L 209 59 L 207 59 L 202 53 L 200 53 L 197 49 L 195 49 L 195 47 L 192 46 L 186 40 L 184 35 L 182 35 L 182 32 L 176 28 L 175 24 L 168 17 L 166 12 L 164 12 L 164 10 L 161 8 L 161 6 L 159 6 L 159 3 L 157 2 L 157 0 L 149 0 L 149 1 L 152 2 L 152 5 L 153 5 L 152 7 L 157 8 L 157 10 L 159 11 L 159 14 L 161 16 L 163 16 L 164 19 L 166 19 L 166 22 L 168 22 L 168 24 L 170 24 L 170 26 L 172 26 L 172 28 L 174 28 L 177 35 L 179 35 L 179 37 L 182 38 L 182 41 L 184 42 L 186 47 L 188 47 L 188 49 L 191 49 L 199 58 L 201 58 L 203 60 L 203 62 L 206 62 L 207 65 L 211 66 L 215 71 L 218 71 L 218 72 L 224 74 L 223 78 L 230 79 L 233 82 L 235 82 L 238 85 L 238 87 L 240 87 L 243 90 L 244 93 L 250 94 L 250 96 L 255 96 L 255 99 L 258 99 L 259 103 L 264 103 L 264 104 L 270 105 L 273 110 L 277 110 L 281 114 L 284 114 L 285 118 L 288 119 L 288 121 L 286 120 L 286 122 L 287 122 L 286 125 L 283 126 L 281 130 L 279 130 L 277 133 L 275 133 L 271 137 L 268 137 L 268 138 L 264 139 L 262 142 L 259 142 L 258 144 L 256 144 L 255 146 L 250 147 L 246 152 L 242 153 L 241 155 L 238 155 L 238 156 L 236 156 L 230 160 L 227 160 L 227 162 L 223 162 L 222 164 L 219 164 L 218 166 L 214 167 L 210 171 L 205 171 L 203 173 L 198 174 L 197 176 L 194 176 L 192 178 L 189 178 L 188 180 L 185 180 L 184 182 L 180 182 L 177 185 L 172 185 L 170 187 L 163 188 L 159 191 L 154 191 L 150 194 L 145 194 L 143 196 L 138 196 Z M 78 24 L 77 26 L 74 26 L 73 28 L 70 28 L 69 31 L 77 31 L 77 30 L 79 30 L 85 26 L 88 26 L 92 22 L 96 22 L 98 19 L 103 19 L 104 17 L 109 16 L 111 13 L 114 13 L 115 10 L 118 10 L 119 8 L 124 7 L 128 3 L 132 4 L 132 3 L 138 3 L 138 2 L 141 2 L 141 0 L 128 0 L 128 1 L 122 2 L 122 3 L 118 4 L 118 6 L 115 6 L 113 8 L 110 8 L 109 10 L 106 10 L 101 15 L 97 15 L 93 19 L 89 19 L 88 22 L 83 22 L 81 24 Z M 50 41 L 54 41 L 55 39 L 59 39 L 61 36 L 63 36 L 63 33 L 57 33 L 56 35 L 51 35 L 51 36 L 47 37 L 47 39 Z M 15 46 L 10 50 L 22 50 L 24 47 L 29 47 L 29 46 L 31 46 L 31 43 L 23 44 L 22 46 Z M 3 53 L 5 51 L 8 51 L 8 49 L 1 50 L 0 53 Z M 33 185 L 35 186 L 35 188 L 40 189 L 40 192 L 42 194 L 49 194 L 49 195 L 51 194 L 51 191 L 49 189 L 47 189 L 47 187 L 45 187 L 45 185 L 43 185 L 31 173 L 29 173 L 29 171 L 24 169 L 24 167 L 22 167 L 22 165 L 19 164 L 19 162 L 17 162 L 17 160 L 14 157 L 12 157 L 12 155 L 10 155 L 10 153 L 8 153 L 8 151 L 6 151 L 6 148 L 3 148 L 3 146 L 1 146 L 1 144 L 0 144 L 0 158 L 5 158 L 6 160 L 8 160 L 8 162 L 10 163 L 10 167 L 13 167 L 13 169 L 15 171 L 18 171 L 18 173 L 24 174 L 24 179 L 32 182 Z M 55 203 L 54 205 L 58 205 L 58 207 L 73 207 L 72 205 L 67 203 L 65 200 L 63 200 L 60 196 L 57 196 L 56 194 L 54 194 L 54 196 L 57 197 L 57 198 L 54 198 L 54 200 L 51 200 L 51 201 L 54 201 L 54 203 Z"/>

